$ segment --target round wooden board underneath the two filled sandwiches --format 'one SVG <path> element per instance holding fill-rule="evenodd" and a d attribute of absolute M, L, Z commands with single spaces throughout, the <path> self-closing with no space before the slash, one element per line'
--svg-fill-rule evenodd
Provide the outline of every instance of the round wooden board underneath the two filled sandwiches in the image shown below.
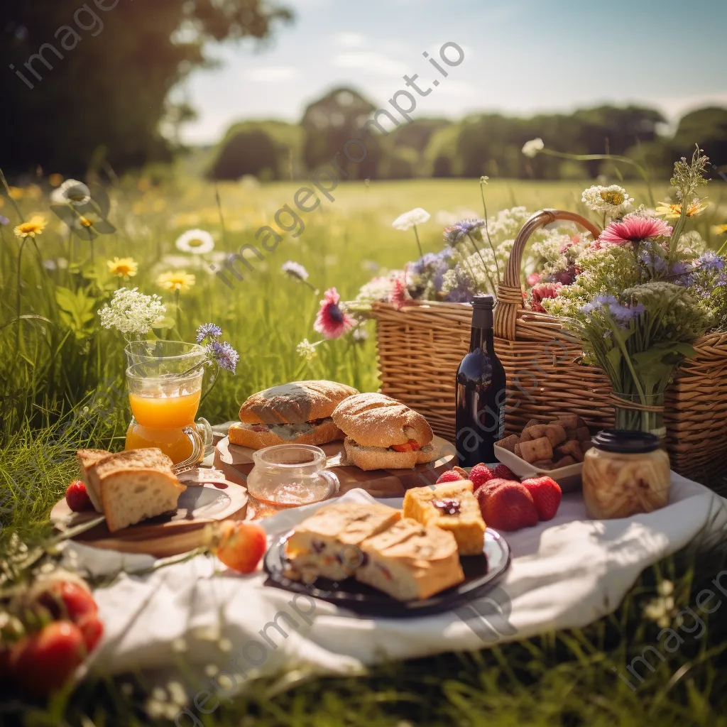
<path fill-rule="evenodd" d="M 434 483 L 444 470 L 454 464 L 457 456 L 454 446 L 435 436 L 433 446 L 441 453 L 438 459 L 427 465 L 417 465 L 411 470 L 370 470 L 366 472 L 346 463 L 343 442 L 329 442 L 321 445 L 328 462 L 326 468 L 333 470 L 340 481 L 338 494 L 360 487 L 373 497 L 403 497 L 411 487 L 422 487 Z M 225 478 L 244 485 L 252 472 L 252 454 L 255 450 L 230 444 L 222 438 L 214 448 L 214 466 L 225 473 Z"/>

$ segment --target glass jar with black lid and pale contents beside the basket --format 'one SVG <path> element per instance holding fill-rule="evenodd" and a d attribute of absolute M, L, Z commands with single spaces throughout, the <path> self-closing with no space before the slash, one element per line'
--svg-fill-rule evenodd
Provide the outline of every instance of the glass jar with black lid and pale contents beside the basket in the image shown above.
<path fill-rule="evenodd" d="M 651 513 L 669 502 L 669 455 L 646 432 L 603 430 L 583 463 L 583 499 L 590 518 Z"/>

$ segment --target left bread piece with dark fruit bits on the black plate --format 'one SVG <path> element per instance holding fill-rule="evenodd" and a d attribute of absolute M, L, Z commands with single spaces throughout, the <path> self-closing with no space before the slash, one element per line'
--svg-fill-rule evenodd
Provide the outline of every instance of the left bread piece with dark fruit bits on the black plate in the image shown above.
<path fill-rule="evenodd" d="M 361 564 L 361 543 L 400 519 L 401 510 L 377 502 L 334 502 L 296 526 L 286 557 L 298 577 L 342 581 Z"/>

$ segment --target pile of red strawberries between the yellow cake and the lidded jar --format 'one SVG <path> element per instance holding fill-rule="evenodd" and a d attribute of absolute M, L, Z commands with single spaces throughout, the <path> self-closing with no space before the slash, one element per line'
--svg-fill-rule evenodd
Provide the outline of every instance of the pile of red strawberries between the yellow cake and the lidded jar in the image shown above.
<path fill-rule="evenodd" d="M 437 480 L 470 480 L 484 521 L 503 531 L 520 530 L 553 520 L 561 505 L 561 487 L 553 478 L 534 477 L 522 482 L 505 465 L 475 465 L 467 474 L 459 467 L 447 470 Z"/>

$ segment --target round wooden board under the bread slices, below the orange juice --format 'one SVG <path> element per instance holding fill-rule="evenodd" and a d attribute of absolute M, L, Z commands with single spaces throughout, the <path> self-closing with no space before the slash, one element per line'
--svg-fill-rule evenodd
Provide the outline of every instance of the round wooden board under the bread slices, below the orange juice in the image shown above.
<path fill-rule="evenodd" d="M 174 513 L 158 515 L 123 530 L 110 533 L 100 523 L 75 540 L 121 553 L 147 553 L 157 558 L 178 555 L 203 543 L 204 526 L 221 520 L 244 520 L 247 513 L 247 490 L 225 479 L 220 470 L 190 470 L 180 475 L 187 489 L 180 494 Z M 93 520 L 98 513 L 73 513 L 65 497 L 55 504 L 50 519 L 56 529 L 65 531 Z"/>

